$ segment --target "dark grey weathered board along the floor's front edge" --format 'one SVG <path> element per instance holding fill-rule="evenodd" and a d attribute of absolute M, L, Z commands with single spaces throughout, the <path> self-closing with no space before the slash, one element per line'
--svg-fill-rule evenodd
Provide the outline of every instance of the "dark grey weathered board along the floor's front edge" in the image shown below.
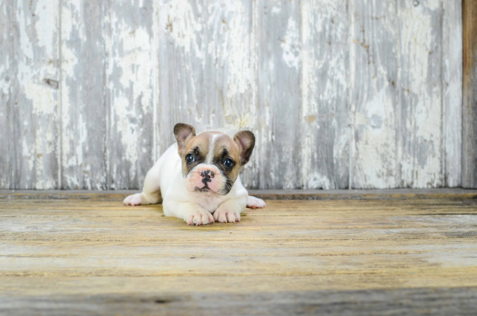
<path fill-rule="evenodd" d="M 8 315 L 475 315 L 477 289 L 418 288 L 185 295 L 58 295 L 10 300 Z M 85 305 L 88 303 L 88 305 Z M 85 309 L 85 306 L 88 306 Z"/>

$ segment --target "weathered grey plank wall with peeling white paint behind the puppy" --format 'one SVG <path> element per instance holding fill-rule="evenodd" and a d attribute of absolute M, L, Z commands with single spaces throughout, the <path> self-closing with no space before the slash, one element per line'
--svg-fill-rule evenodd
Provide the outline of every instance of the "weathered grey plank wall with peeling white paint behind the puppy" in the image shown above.
<path fill-rule="evenodd" d="M 253 188 L 466 179 L 459 0 L 3 0 L 0 44 L 0 188 L 140 188 L 177 122 L 254 131 Z"/>

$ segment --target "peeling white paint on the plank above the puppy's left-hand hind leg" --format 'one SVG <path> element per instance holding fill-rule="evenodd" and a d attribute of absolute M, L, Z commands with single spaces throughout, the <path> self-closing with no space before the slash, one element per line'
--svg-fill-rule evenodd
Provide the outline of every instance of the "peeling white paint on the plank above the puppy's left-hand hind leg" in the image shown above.
<path fill-rule="evenodd" d="M 128 24 L 121 14 L 122 11 L 113 10 L 110 21 L 113 32 L 107 38 L 110 43 L 107 73 L 111 91 L 110 138 L 114 140 L 110 143 L 110 155 L 113 155 L 110 188 L 124 186 L 122 177 L 134 179 L 138 175 L 144 113 L 152 112 L 153 97 L 151 38 L 144 27 Z"/>

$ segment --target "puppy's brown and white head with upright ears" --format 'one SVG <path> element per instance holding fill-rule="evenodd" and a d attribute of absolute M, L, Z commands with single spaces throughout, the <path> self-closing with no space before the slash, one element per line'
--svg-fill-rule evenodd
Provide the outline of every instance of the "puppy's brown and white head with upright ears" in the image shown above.
<path fill-rule="evenodd" d="M 179 123 L 174 136 L 187 190 L 220 195 L 230 192 L 255 146 L 254 133 L 248 130 L 239 131 L 234 139 L 217 131 L 196 136 L 194 127 Z"/>

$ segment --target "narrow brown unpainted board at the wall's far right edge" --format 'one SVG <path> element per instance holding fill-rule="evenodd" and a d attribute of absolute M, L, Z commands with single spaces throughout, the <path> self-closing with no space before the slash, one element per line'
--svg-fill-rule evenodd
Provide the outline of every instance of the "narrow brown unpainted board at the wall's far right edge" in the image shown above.
<path fill-rule="evenodd" d="M 477 3 L 462 1 L 462 186 L 477 187 Z"/>

